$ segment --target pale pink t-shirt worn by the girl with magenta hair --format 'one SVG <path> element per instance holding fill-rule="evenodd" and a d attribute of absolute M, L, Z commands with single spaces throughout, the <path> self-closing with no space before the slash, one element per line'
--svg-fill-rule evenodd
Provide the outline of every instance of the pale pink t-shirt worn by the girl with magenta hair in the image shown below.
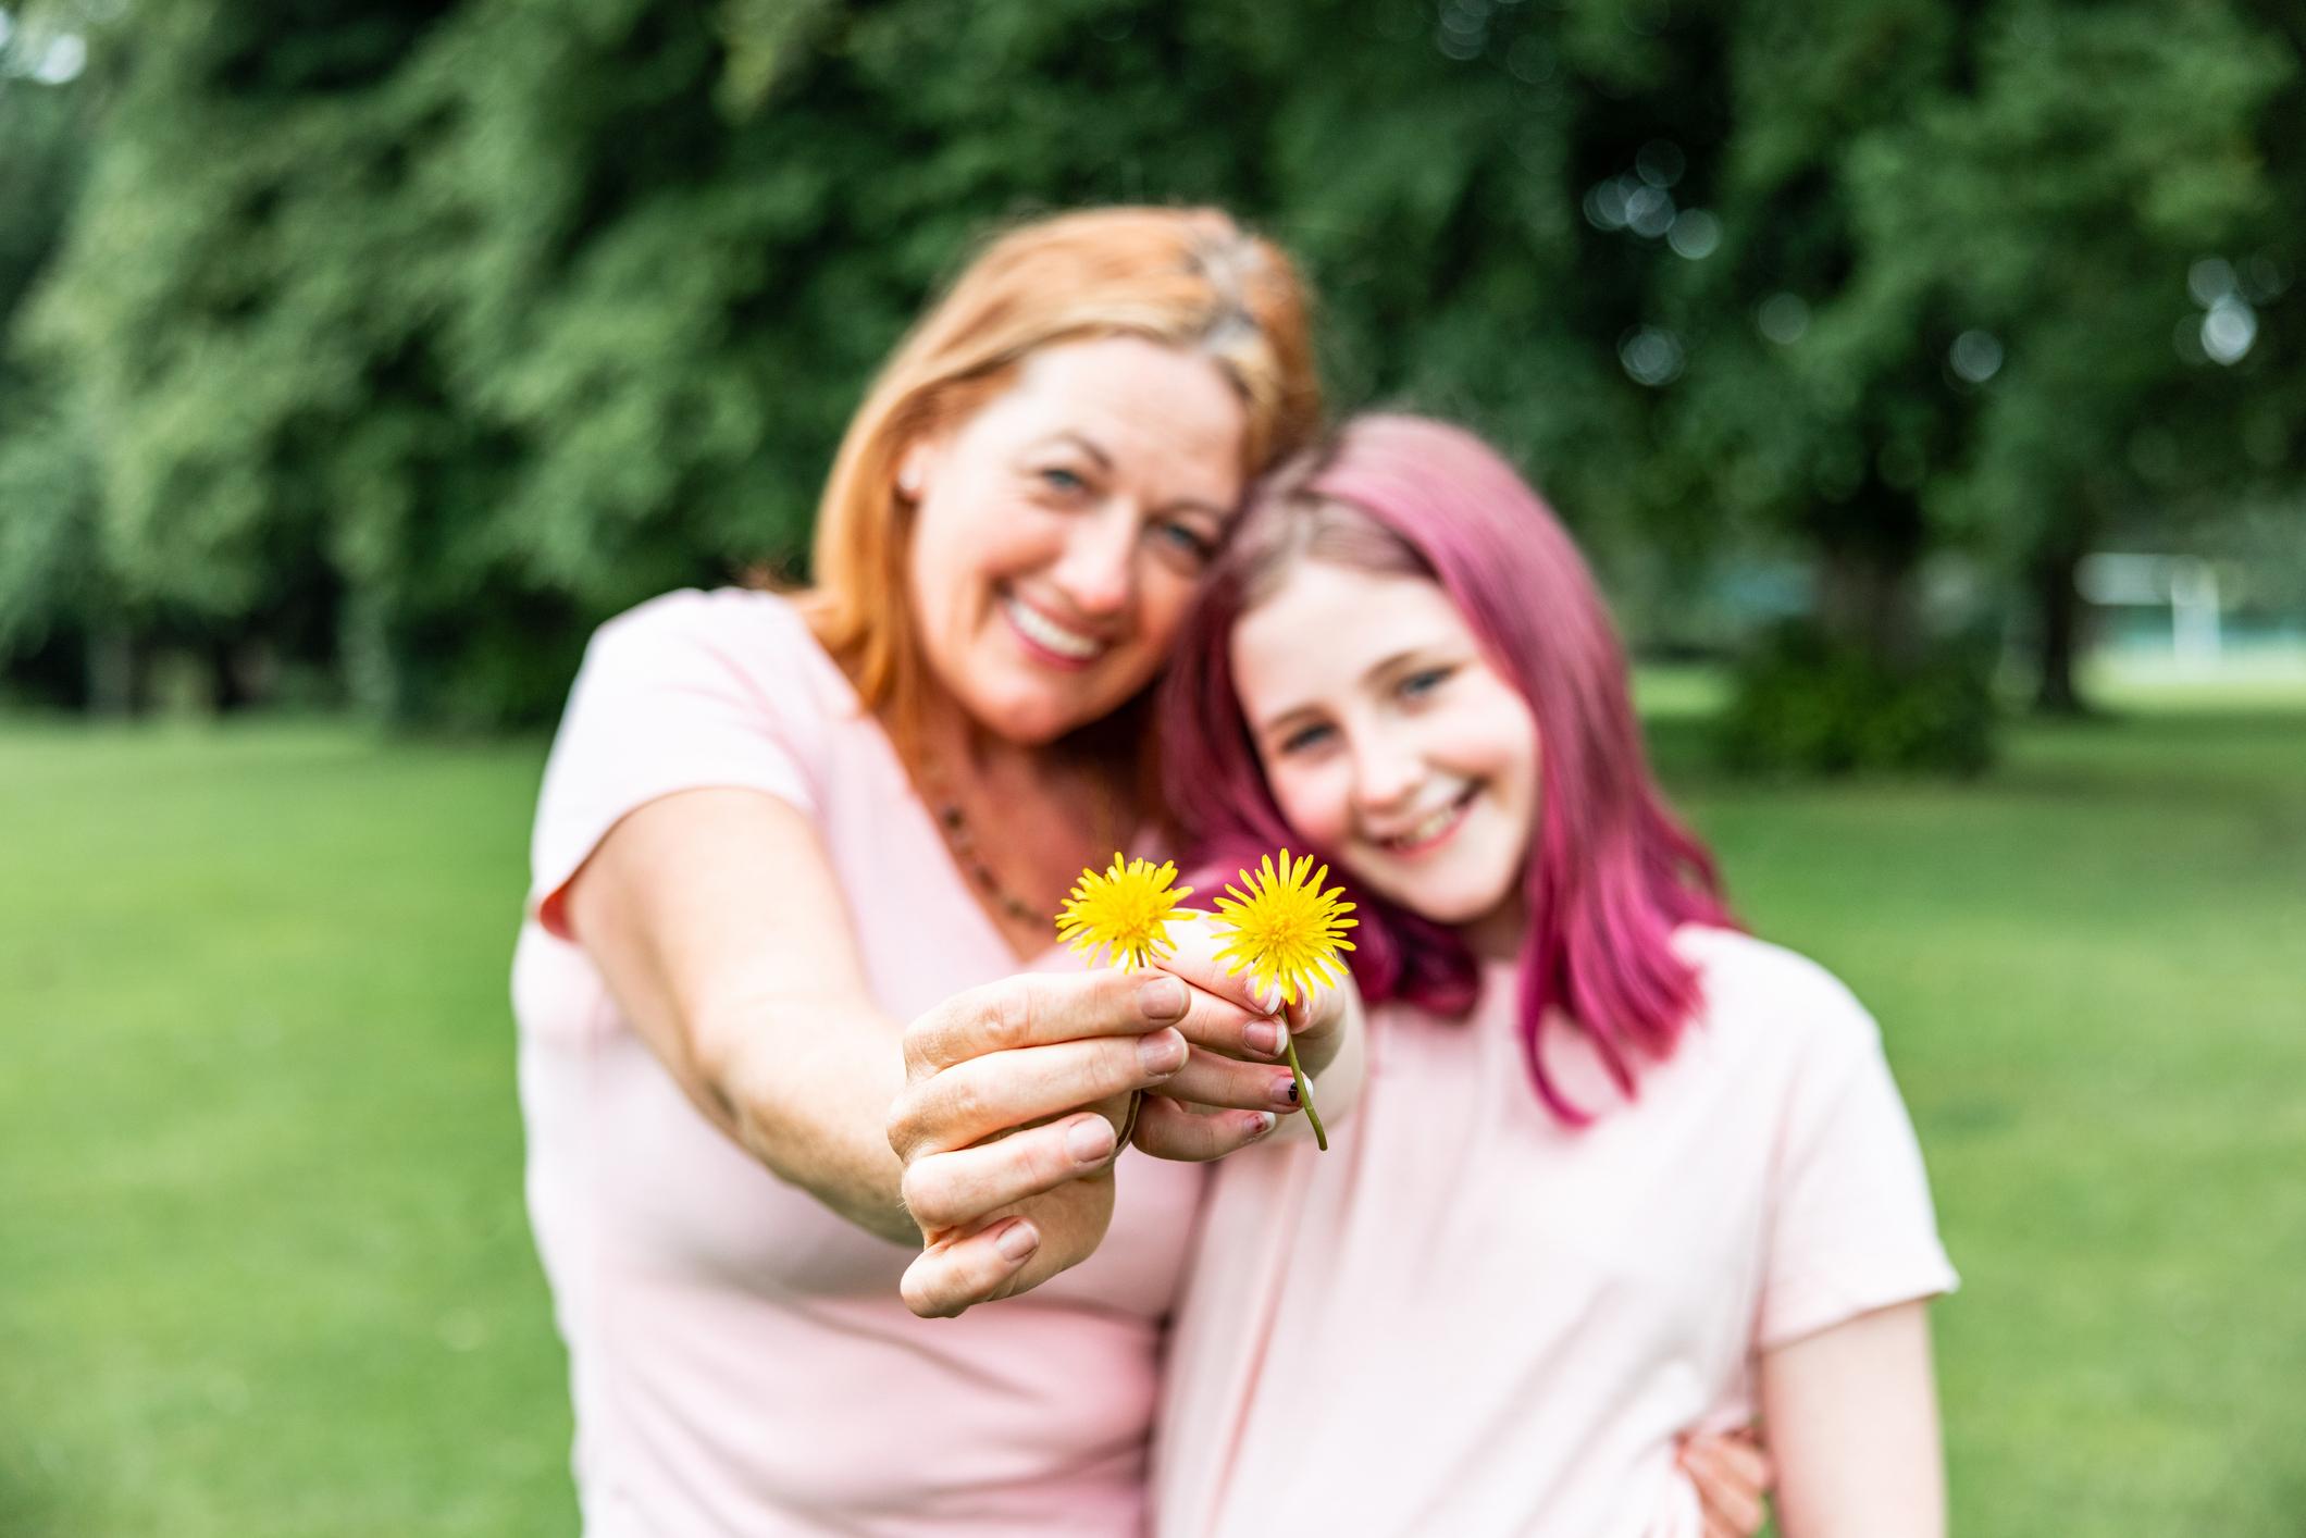
<path fill-rule="evenodd" d="M 1755 1354 L 1953 1287 L 1872 1019 L 1801 957 L 1683 929 L 1706 1005 L 1626 1102 L 1587 1038 L 1529 1088 L 1513 973 L 1379 1008 L 1331 1153 L 1220 1164 L 1162 1393 L 1155 1531 L 1697 1538 L 1674 1441 Z"/>

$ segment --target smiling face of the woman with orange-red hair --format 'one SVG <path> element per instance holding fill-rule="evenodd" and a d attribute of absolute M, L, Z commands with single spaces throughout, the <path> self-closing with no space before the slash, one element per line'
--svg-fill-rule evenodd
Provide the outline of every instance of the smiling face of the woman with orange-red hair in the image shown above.
<path fill-rule="evenodd" d="M 913 618 L 978 724 L 1047 742 L 1151 683 L 1241 498 L 1245 429 L 1206 357 L 1102 337 L 911 445 Z"/>

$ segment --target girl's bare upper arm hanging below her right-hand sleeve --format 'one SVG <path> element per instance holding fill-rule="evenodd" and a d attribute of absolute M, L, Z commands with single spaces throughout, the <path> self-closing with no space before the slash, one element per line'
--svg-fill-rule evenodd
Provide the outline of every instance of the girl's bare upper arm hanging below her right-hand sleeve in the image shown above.
<path fill-rule="evenodd" d="M 1926 1303 L 1859 1314 L 1766 1351 L 1762 1427 L 1785 1538 L 1944 1538 Z"/>

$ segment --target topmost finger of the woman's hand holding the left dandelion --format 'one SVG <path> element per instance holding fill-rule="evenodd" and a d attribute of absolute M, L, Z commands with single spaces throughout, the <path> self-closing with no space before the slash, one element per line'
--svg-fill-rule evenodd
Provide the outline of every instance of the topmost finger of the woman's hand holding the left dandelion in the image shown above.
<path fill-rule="evenodd" d="M 955 994 L 904 1031 L 913 1077 L 955 1063 L 1091 1035 L 1144 1035 L 1185 1015 L 1188 989 L 1169 973 L 1022 973 Z"/>

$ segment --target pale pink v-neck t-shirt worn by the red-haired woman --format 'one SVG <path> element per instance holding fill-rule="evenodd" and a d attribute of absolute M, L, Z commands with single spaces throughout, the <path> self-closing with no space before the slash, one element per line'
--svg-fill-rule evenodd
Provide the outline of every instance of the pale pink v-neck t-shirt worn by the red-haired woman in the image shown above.
<path fill-rule="evenodd" d="M 706 1123 L 556 934 L 602 835 L 699 786 L 752 786 L 816 823 L 890 1015 L 1022 971 L 784 600 L 673 593 L 600 629 L 544 772 L 512 971 L 586 1533 L 1137 1533 L 1201 1174 L 1125 1155 L 1086 1264 L 962 1319 L 909 1314 L 913 1250 Z"/>

